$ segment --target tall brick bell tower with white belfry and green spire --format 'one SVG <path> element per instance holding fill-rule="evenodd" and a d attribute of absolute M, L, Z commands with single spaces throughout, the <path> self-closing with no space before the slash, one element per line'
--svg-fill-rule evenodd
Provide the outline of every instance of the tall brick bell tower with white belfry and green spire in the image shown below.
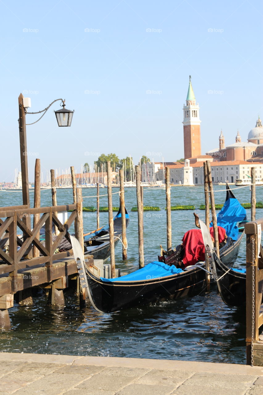
<path fill-rule="evenodd" d="M 199 105 L 196 103 L 193 87 L 191 83 L 191 75 L 189 76 L 189 87 L 186 97 L 186 105 L 184 105 L 184 159 L 192 158 L 192 156 L 201 155 L 201 135 L 199 119 Z"/>

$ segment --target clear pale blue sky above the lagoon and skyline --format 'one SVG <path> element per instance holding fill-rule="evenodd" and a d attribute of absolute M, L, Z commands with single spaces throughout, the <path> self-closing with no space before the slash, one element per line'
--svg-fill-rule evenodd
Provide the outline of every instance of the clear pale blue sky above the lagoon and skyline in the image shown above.
<path fill-rule="evenodd" d="M 253 0 L 0 2 L 0 181 L 20 170 L 18 96 L 40 111 L 58 98 L 75 110 L 59 128 L 54 110 L 27 126 L 29 179 L 102 153 L 134 162 L 184 156 L 189 75 L 200 106 L 201 150 L 242 141 L 262 111 L 262 3 Z M 32 123 L 38 115 L 26 115 Z"/>

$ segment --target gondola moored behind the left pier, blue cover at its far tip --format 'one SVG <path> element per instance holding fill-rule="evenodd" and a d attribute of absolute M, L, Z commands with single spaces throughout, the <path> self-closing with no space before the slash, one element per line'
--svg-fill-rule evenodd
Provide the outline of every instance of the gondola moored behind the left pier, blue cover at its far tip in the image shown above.
<path fill-rule="evenodd" d="M 125 209 L 126 217 L 126 228 L 129 224 L 129 214 Z M 115 218 L 113 218 L 114 226 L 114 245 L 118 243 L 122 235 L 122 215 L 120 208 Z M 109 224 L 103 226 L 96 231 L 91 232 L 89 235 L 84 237 L 84 251 L 86 255 L 93 255 L 94 259 L 107 260 L 110 256 L 110 245 L 109 245 Z"/>

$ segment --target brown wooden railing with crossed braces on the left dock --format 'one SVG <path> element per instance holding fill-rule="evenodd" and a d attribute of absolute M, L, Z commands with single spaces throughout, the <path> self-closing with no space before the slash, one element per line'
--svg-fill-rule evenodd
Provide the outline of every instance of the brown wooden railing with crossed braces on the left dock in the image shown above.
<path fill-rule="evenodd" d="M 81 203 L 82 205 L 82 203 Z M 0 275 L 9 273 L 11 276 L 11 293 L 17 292 L 17 271 L 25 267 L 45 264 L 47 268 L 47 278 L 51 281 L 53 260 L 66 258 L 72 251 L 58 252 L 55 254 L 63 237 L 70 241 L 68 230 L 73 221 L 82 215 L 77 210 L 78 202 L 70 205 L 26 208 L 26 206 L 0 207 Z M 68 220 L 62 224 L 57 217 L 61 211 L 73 210 Z M 26 217 L 35 214 L 42 214 L 37 224 L 31 230 L 26 226 Z M 77 218 L 77 223 L 82 223 Z M 58 228 L 58 235 L 53 235 L 53 224 Z M 39 231 L 45 229 L 45 244 L 39 240 Z M 22 237 L 17 235 L 17 229 L 21 229 Z M 83 231 L 82 231 L 83 234 Z M 4 246 L 8 245 L 8 251 Z M 37 258 L 32 256 L 32 249 L 35 246 L 40 255 Z"/>

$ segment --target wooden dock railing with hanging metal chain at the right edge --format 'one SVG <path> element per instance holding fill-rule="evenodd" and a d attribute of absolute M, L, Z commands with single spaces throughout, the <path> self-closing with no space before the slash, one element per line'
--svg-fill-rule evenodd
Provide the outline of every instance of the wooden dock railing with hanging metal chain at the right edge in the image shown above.
<path fill-rule="evenodd" d="M 263 325 L 261 310 L 263 294 L 263 249 L 261 227 L 263 218 L 245 225 L 246 233 L 246 361 L 263 366 L 263 342 L 259 327 Z"/>

